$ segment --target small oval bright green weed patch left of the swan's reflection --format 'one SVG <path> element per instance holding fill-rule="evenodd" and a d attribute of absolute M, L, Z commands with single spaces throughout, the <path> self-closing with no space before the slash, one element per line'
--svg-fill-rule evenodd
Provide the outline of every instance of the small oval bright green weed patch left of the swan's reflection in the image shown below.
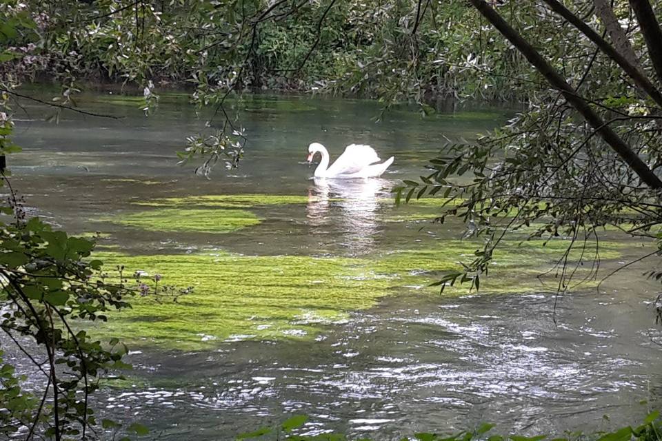
<path fill-rule="evenodd" d="M 260 219 L 243 209 L 155 208 L 103 220 L 154 232 L 229 233 L 257 225 Z"/>

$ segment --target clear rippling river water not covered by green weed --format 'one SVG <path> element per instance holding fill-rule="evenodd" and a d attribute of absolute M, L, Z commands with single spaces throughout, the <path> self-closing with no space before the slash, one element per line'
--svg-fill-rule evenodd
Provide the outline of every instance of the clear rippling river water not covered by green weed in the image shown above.
<path fill-rule="evenodd" d="M 133 105 L 95 100 L 88 97 L 90 110 L 125 118 L 67 114 L 52 125 L 41 121 L 43 110 L 27 107 L 16 137 L 26 153 L 10 159 L 14 179 L 40 216 L 72 231 L 102 229 L 114 245 L 139 253 L 222 248 L 372 256 L 395 247 L 443 247 L 461 236 L 461 225 L 385 222 L 410 211 L 394 212 L 380 198 L 401 178 L 422 174 L 425 159 L 446 139 L 472 138 L 506 116 L 481 110 L 422 120 L 394 112 L 378 124 L 373 103 L 258 98 L 245 103 L 245 161 L 229 174 L 215 170 L 208 181 L 174 165 L 174 150 L 202 125 L 185 100 L 164 99 L 148 119 Z M 348 143 L 368 143 L 396 161 L 369 183 L 315 182 L 301 163 L 311 141 L 327 145 L 332 157 Z M 263 223 L 225 235 L 98 222 L 100 214 L 135 211 L 128 205 L 135 201 L 253 193 L 316 197 L 258 208 Z M 651 342 L 657 331 L 647 304 L 656 287 L 639 274 L 619 275 L 601 294 L 565 296 L 556 325 L 548 292 L 439 298 L 402 287 L 313 341 L 223 342 L 192 353 L 141 348 L 130 356 L 135 386 L 103 392 L 98 406 L 139 418 L 168 440 L 231 439 L 291 413 L 310 415 L 311 433 L 333 429 L 387 440 L 481 421 L 530 433 L 630 423 L 645 413 L 640 400 L 662 404 L 660 348 Z M 603 421 L 605 414 L 612 422 Z"/>

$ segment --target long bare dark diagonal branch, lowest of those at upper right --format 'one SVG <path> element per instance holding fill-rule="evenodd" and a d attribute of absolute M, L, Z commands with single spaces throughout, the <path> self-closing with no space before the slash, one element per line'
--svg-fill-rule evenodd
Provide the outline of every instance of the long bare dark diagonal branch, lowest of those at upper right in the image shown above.
<path fill-rule="evenodd" d="M 490 23 L 492 23 L 492 25 L 494 25 L 494 27 L 499 30 L 499 32 L 501 32 L 501 34 L 503 34 L 503 36 L 508 39 L 508 41 L 510 41 L 510 43 L 512 43 L 512 45 L 514 45 L 532 65 L 534 65 L 536 70 L 547 79 L 553 88 L 559 90 L 559 92 L 563 94 L 565 100 L 568 101 L 568 103 L 570 103 L 581 116 L 583 116 L 596 132 L 598 132 L 603 141 L 612 147 L 612 150 L 614 150 L 616 154 L 621 156 L 623 161 L 625 161 L 630 169 L 639 176 L 643 183 L 654 189 L 662 189 L 662 181 L 660 181 L 660 178 L 648 168 L 648 165 L 646 165 L 641 158 L 632 151 L 632 148 L 630 148 L 630 146 L 627 145 L 616 132 L 608 127 L 608 125 L 605 125 L 603 119 L 594 112 L 585 99 L 577 94 L 576 90 L 561 78 L 554 68 L 545 61 L 541 54 L 539 54 L 528 41 L 523 39 L 523 37 L 506 23 L 501 15 L 484 0 L 469 1 L 472 6 L 483 15 L 483 17 L 488 19 L 488 21 L 490 21 Z"/>

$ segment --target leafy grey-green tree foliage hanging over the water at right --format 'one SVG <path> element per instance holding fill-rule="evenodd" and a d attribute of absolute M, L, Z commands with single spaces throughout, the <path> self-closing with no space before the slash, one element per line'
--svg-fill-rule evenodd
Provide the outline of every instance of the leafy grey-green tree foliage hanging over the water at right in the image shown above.
<path fill-rule="evenodd" d="M 472 3 L 481 3 L 503 20 L 503 12 L 500 17 L 484 2 Z M 534 88 L 528 109 L 507 127 L 473 145 L 448 146 L 432 159 L 430 174 L 421 183 L 399 189 L 408 197 L 443 192 L 461 201 L 439 220 L 461 216 L 472 234 L 485 237 L 483 249 L 465 271 L 448 274 L 442 283 L 471 280 L 478 285 L 495 247 L 517 230 L 526 230 L 530 238 L 571 239 L 559 258 L 560 291 L 585 263 L 591 267 L 588 277 L 595 276 L 600 229 L 660 238 L 660 79 L 652 68 L 652 52 L 642 43 L 643 32 L 627 2 L 615 2 L 608 10 L 623 23 L 628 44 L 621 43 L 621 48 L 634 48 L 636 65 L 628 67 L 612 44 L 601 41 L 599 33 L 607 32 L 594 15 L 592 1 L 572 3 L 575 12 L 556 1 L 545 3 L 549 8 L 538 5 L 530 13 L 541 27 L 563 30 L 565 36 L 556 41 L 565 45 L 535 44 L 532 37 L 523 37 L 527 29 L 517 30 L 514 23 L 499 30 L 532 63 L 538 57 L 542 63 L 536 70 L 549 85 Z M 597 38 L 588 32 L 594 29 Z M 568 265 L 574 248 L 583 251 Z M 654 254 L 659 251 L 643 257 Z"/>

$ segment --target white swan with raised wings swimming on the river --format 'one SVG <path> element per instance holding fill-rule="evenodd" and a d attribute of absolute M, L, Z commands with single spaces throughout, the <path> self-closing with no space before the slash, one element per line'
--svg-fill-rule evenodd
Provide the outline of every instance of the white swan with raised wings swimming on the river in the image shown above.
<path fill-rule="evenodd" d="M 386 171 L 393 163 L 393 156 L 383 163 L 370 145 L 350 144 L 345 147 L 345 152 L 329 166 L 329 152 L 320 143 L 312 143 L 308 146 L 308 162 L 319 152 L 322 160 L 315 169 L 316 178 L 376 178 Z"/>

